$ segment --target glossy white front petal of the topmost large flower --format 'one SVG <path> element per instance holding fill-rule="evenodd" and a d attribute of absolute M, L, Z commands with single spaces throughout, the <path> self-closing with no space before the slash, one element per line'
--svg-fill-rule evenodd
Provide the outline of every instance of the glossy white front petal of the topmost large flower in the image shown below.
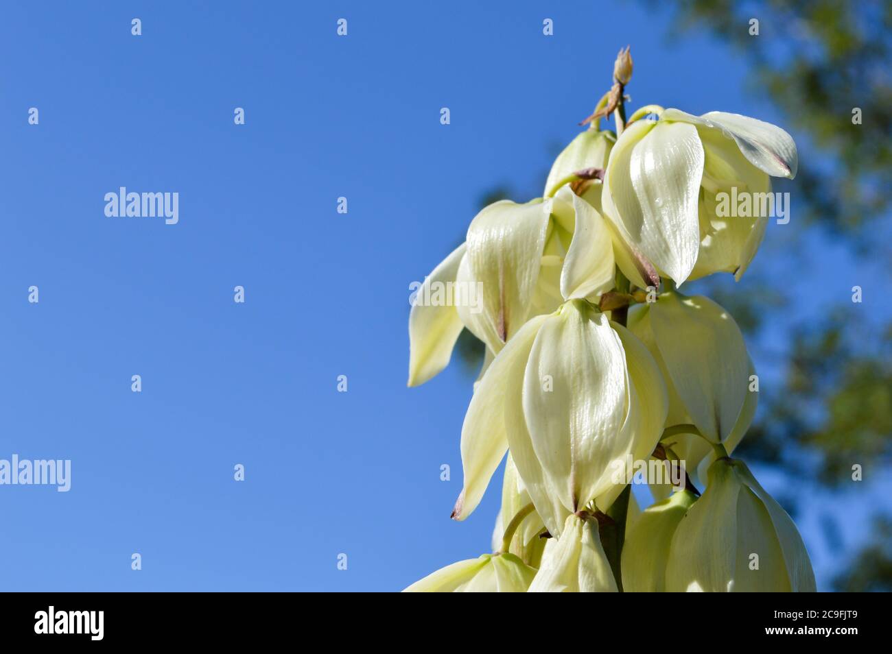
<path fill-rule="evenodd" d="M 697 260 L 703 165 L 695 127 L 647 120 L 623 133 L 607 164 L 605 212 L 634 249 L 679 284 Z"/>

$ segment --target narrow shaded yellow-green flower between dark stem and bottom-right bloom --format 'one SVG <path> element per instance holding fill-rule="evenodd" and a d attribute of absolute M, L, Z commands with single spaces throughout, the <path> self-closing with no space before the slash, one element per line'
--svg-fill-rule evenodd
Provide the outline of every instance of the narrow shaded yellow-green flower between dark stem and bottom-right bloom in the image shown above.
<path fill-rule="evenodd" d="M 689 490 L 673 493 L 641 512 L 626 528 L 623 544 L 623 590 L 663 593 L 669 546 L 684 514 L 697 500 Z"/>

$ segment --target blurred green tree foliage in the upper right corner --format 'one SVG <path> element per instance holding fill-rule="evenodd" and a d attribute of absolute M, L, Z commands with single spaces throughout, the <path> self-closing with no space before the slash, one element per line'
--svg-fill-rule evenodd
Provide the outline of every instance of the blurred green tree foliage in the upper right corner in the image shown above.
<path fill-rule="evenodd" d="M 653 0 L 648 4 L 657 6 Z M 673 32 L 708 29 L 752 64 L 749 86 L 780 110 L 827 166 L 800 168 L 809 218 L 858 245 L 890 208 L 892 3 L 859 0 L 675 0 Z M 749 20 L 759 20 L 759 36 Z M 852 122 L 861 110 L 860 125 Z M 828 176 L 831 176 L 828 179 Z"/>

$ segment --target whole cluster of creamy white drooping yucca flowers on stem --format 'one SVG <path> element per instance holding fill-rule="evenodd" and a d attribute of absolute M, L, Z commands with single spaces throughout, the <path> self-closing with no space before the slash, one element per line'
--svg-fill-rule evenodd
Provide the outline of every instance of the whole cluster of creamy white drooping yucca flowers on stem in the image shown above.
<path fill-rule="evenodd" d="M 795 176 L 796 145 L 721 111 L 646 105 L 626 120 L 631 77 L 627 48 L 543 197 L 483 208 L 425 279 L 479 288 L 476 302 L 412 307 L 409 386 L 442 371 L 463 329 L 486 346 L 453 519 L 507 459 L 492 553 L 407 591 L 814 591 L 797 527 L 730 457 L 756 412 L 743 336 L 679 290 L 740 278 L 768 217 L 721 217 L 717 203 Z M 599 128 L 610 115 L 615 133 Z M 681 463 L 684 483 L 648 479 L 659 501 L 638 511 L 616 471 L 655 460 Z"/>

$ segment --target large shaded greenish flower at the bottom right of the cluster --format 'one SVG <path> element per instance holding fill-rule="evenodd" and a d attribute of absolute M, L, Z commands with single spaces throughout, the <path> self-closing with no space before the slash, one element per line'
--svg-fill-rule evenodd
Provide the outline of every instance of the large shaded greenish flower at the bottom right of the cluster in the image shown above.
<path fill-rule="evenodd" d="M 747 465 L 722 457 L 673 535 L 666 590 L 814 592 L 812 563 L 796 525 Z"/>

